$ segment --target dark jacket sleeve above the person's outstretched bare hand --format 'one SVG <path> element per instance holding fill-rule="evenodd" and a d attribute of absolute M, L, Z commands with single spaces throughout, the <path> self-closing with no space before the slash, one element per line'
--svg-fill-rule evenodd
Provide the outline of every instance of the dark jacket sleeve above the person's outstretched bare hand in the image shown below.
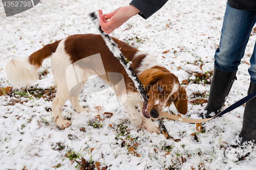
<path fill-rule="evenodd" d="M 147 19 L 157 12 L 168 0 L 133 0 L 130 5 L 133 5 L 140 10 L 139 15 Z"/>

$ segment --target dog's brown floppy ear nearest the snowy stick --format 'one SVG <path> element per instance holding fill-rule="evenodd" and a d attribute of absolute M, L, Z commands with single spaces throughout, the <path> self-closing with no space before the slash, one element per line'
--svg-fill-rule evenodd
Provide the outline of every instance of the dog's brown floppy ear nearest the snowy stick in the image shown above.
<path fill-rule="evenodd" d="M 165 73 L 162 70 L 151 68 L 146 69 L 139 75 L 139 79 L 143 84 L 145 90 L 148 90 L 148 86 L 155 83 L 158 79 L 162 78 Z"/>

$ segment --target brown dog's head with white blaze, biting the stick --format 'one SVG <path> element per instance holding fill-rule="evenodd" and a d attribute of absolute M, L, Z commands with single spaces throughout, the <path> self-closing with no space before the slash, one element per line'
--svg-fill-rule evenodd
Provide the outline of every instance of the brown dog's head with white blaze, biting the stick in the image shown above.
<path fill-rule="evenodd" d="M 141 72 L 139 79 L 148 95 L 148 102 L 144 102 L 142 108 L 145 118 L 160 118 L 163 109 L 172 103 L 179 113 L 187 113 L 186 90 L 181 87 L 178 78 L 167 69 L 146 69 Z"/>

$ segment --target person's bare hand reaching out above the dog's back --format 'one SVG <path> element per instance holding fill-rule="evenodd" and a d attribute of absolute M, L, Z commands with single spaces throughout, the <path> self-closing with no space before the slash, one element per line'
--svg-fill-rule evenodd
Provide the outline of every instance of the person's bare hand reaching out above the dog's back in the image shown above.
<path fill-rule="evenodd" d="M 110 34 L 112 31 L 120 27 L 125 21 L 138 14 L 139 12 L 140 11 L 133 5 L 119 7 L 114 12 L 105 15 L 103 15 L 102 11 L 99 10 L 99 23 L 101 30 Z"/>

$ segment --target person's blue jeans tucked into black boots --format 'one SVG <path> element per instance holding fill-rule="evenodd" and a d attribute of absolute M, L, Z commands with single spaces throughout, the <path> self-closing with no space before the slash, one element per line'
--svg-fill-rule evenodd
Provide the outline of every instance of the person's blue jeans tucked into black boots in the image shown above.
<path fill-rule="evenodd" d="M 256 11 L 226 7 L 221 30 L 220 47 L 215 52 L 215 67 L 224 72 L 237 71 L 246 44 L 256 22 Z M 256 45 L 250 58 L 251 82 L 256 84 Z"/>

